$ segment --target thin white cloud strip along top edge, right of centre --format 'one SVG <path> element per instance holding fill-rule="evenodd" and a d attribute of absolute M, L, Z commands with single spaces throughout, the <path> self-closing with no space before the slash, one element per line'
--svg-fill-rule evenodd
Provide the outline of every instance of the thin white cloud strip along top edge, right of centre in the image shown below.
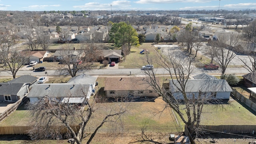
<path fill-rule="evenodd" d="M 213 0 L 138 0 L 138 4 L 162 4 L 162 3 L 175 3 L 175 2 L 193 2 L 193 3 L 206 3 Z M 215 0 L 218 1 L 218 0 Z"/>

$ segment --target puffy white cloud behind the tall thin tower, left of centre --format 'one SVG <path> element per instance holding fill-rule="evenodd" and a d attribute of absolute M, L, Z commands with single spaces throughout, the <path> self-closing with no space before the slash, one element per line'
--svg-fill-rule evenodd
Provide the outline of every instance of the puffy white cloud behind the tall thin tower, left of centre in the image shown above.
<path fill-rule="evenodd" d="M 110 6 L 112 5 L 112 10 L 118 10 L 120 8 L 128 8 L 130 7 L 130 1 L 128 0 L 116 0 L 109 4 L 100 4 L 98 2 L 89 2 L 82 6 L 73 6 L 73 8 L 82 8 L 84 10 L 110 10 Z M 129 8 L 130 9 L 130 8 Z"/>

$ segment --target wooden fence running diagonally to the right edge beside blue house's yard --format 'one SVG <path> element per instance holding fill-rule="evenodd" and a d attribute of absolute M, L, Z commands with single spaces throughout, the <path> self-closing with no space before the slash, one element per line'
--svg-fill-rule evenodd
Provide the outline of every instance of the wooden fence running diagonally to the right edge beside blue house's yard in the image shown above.
<path fill-rule="evenodd" d="M 232 90 L 233 90 L 233 92 L 231 92 L 232 96 L 234 96 L 237 100 L 244 103 L 246 106 L 251 108 L 254 112 L 256 112 L 256 104 L 254 102 L 244 97 L 242 94 L 237 92 L 234 88 L 232 88 Z"/>

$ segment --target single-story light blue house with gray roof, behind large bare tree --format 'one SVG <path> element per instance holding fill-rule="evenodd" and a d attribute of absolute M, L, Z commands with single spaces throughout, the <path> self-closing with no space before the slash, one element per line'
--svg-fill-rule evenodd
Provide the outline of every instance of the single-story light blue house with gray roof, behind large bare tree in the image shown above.
<path fill-rule="evenodd" d="M 170 90 L 177 100 L 183 100 L 182 93 L 178 90 L 180 87 L 177 80 L 170 80 Z M 176 87 L 178 86 L 178 88 Z M 229 99 L 232 88 L 226 80 L 222 79 L 204 79 L 188 80 L 186 83 L 186 95 L 192 98 L 193 94 L 197 98 L 199 92 L 201 96 L 212 99 Z"/>

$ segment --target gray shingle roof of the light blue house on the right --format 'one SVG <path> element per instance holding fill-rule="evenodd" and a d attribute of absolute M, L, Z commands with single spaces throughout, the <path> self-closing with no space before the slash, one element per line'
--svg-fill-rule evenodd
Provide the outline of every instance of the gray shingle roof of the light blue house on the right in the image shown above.
<path fill-rule="evenodd" d="M 176 86 L 180 87 L 177 80 L 173 80 Z M 178 88 L 172 84 L 170 80 L 170 87 L 172 92 L 178 92 Z M 226 80 L 208 79 L 208 80 L 188 80 L 186 83 L 186 92 L 232 92 L 232 88 L 228 85 Z"/>

